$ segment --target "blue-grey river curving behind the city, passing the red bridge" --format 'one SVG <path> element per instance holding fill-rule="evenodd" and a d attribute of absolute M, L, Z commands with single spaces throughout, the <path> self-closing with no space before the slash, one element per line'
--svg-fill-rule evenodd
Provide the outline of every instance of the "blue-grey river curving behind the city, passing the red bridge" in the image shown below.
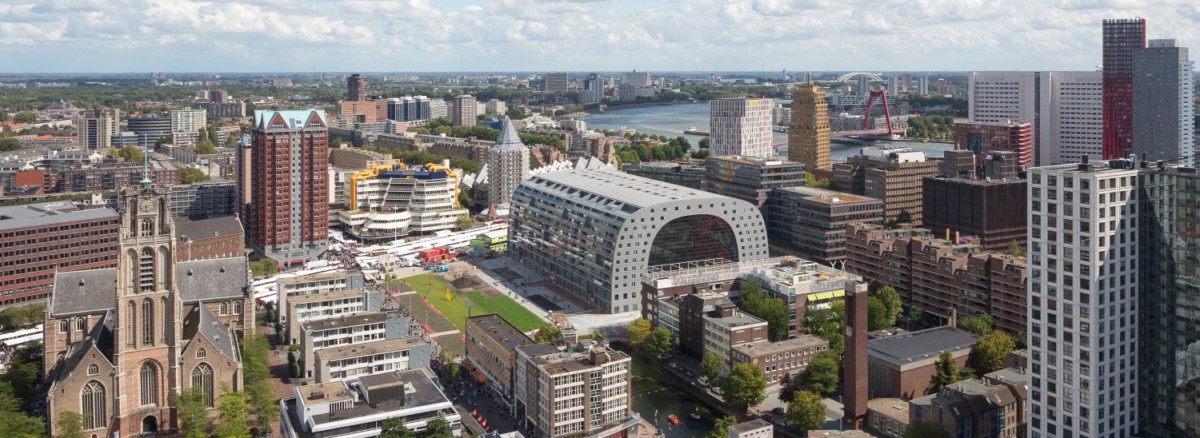
<path fill-rule="evenodd" d="M 704 137 L 688 136 L 683 131 L 690 127 L 708 131 L 708 102 L 682 103 L 671 106 L 653 106 L 640 108 L 610 109 L 604 114 L 592 114 L 587 116 L 588 128 L 635 130 L 640 133 L 666 136 L 670 138 L 683 136 L 695 146 Z M 775 139 L 785 139 L 787 134 L 775 132 Z M 893 142 L 895 145 L 908 146 L 929 155 L 931 158 L 940 158 L 942 152 L 953 149 L 949 143 L 918 143 L 918 142 Z M 846 161 L 858 154 L 862 145 L 838 144 L 830 145 L 829 155 L 833 161 Z"/>

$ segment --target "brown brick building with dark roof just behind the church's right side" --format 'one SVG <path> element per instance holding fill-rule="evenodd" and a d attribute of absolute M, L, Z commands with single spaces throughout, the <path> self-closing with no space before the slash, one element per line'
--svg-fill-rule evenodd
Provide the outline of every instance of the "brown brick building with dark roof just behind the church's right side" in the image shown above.
<path fill-rule="evenodd" d="M 234 216 L 175 218 L 175 258 L 180 262 L 246 256 L 246 233 Z"/>

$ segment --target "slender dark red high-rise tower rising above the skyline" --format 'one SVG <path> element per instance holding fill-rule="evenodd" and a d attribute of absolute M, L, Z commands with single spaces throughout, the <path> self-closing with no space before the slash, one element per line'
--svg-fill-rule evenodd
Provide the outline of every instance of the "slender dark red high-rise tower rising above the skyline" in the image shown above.
<path fill-rule="evenodd" d="M 1146 19 L 1104 20 L 1104 160 L 1133 152 L 1133 49 L 1146 47 Z"/>

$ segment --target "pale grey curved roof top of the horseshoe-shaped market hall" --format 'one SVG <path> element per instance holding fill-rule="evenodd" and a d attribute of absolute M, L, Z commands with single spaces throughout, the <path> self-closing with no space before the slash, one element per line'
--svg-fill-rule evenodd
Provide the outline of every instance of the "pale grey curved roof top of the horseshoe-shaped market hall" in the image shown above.
<path fill-rule="evenodd" d="M 635 208 L 649 208 L 672 200 L 736 200 L 716 193 L 617 172 L 612 168 L 547 172 L 534 175 L 523 184 L 530 182 L 538 186 L 558 186 L 557 188 L 566 192 L 566 197 L 598 196 Z M 602 203 L 602 200 L 596 200 L 596 203 Z"/>

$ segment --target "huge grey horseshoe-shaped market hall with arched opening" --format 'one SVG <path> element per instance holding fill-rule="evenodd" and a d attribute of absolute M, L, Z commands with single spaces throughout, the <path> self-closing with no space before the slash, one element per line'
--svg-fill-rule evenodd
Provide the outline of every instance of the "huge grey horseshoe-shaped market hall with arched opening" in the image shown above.
<path fill-rule="evenodd" d="M 509 252 L 606 313 L 641 307 L 649 266 L 768 257 L 754 205 L 606 169 L 522 182 L 512 196 Z"/>

